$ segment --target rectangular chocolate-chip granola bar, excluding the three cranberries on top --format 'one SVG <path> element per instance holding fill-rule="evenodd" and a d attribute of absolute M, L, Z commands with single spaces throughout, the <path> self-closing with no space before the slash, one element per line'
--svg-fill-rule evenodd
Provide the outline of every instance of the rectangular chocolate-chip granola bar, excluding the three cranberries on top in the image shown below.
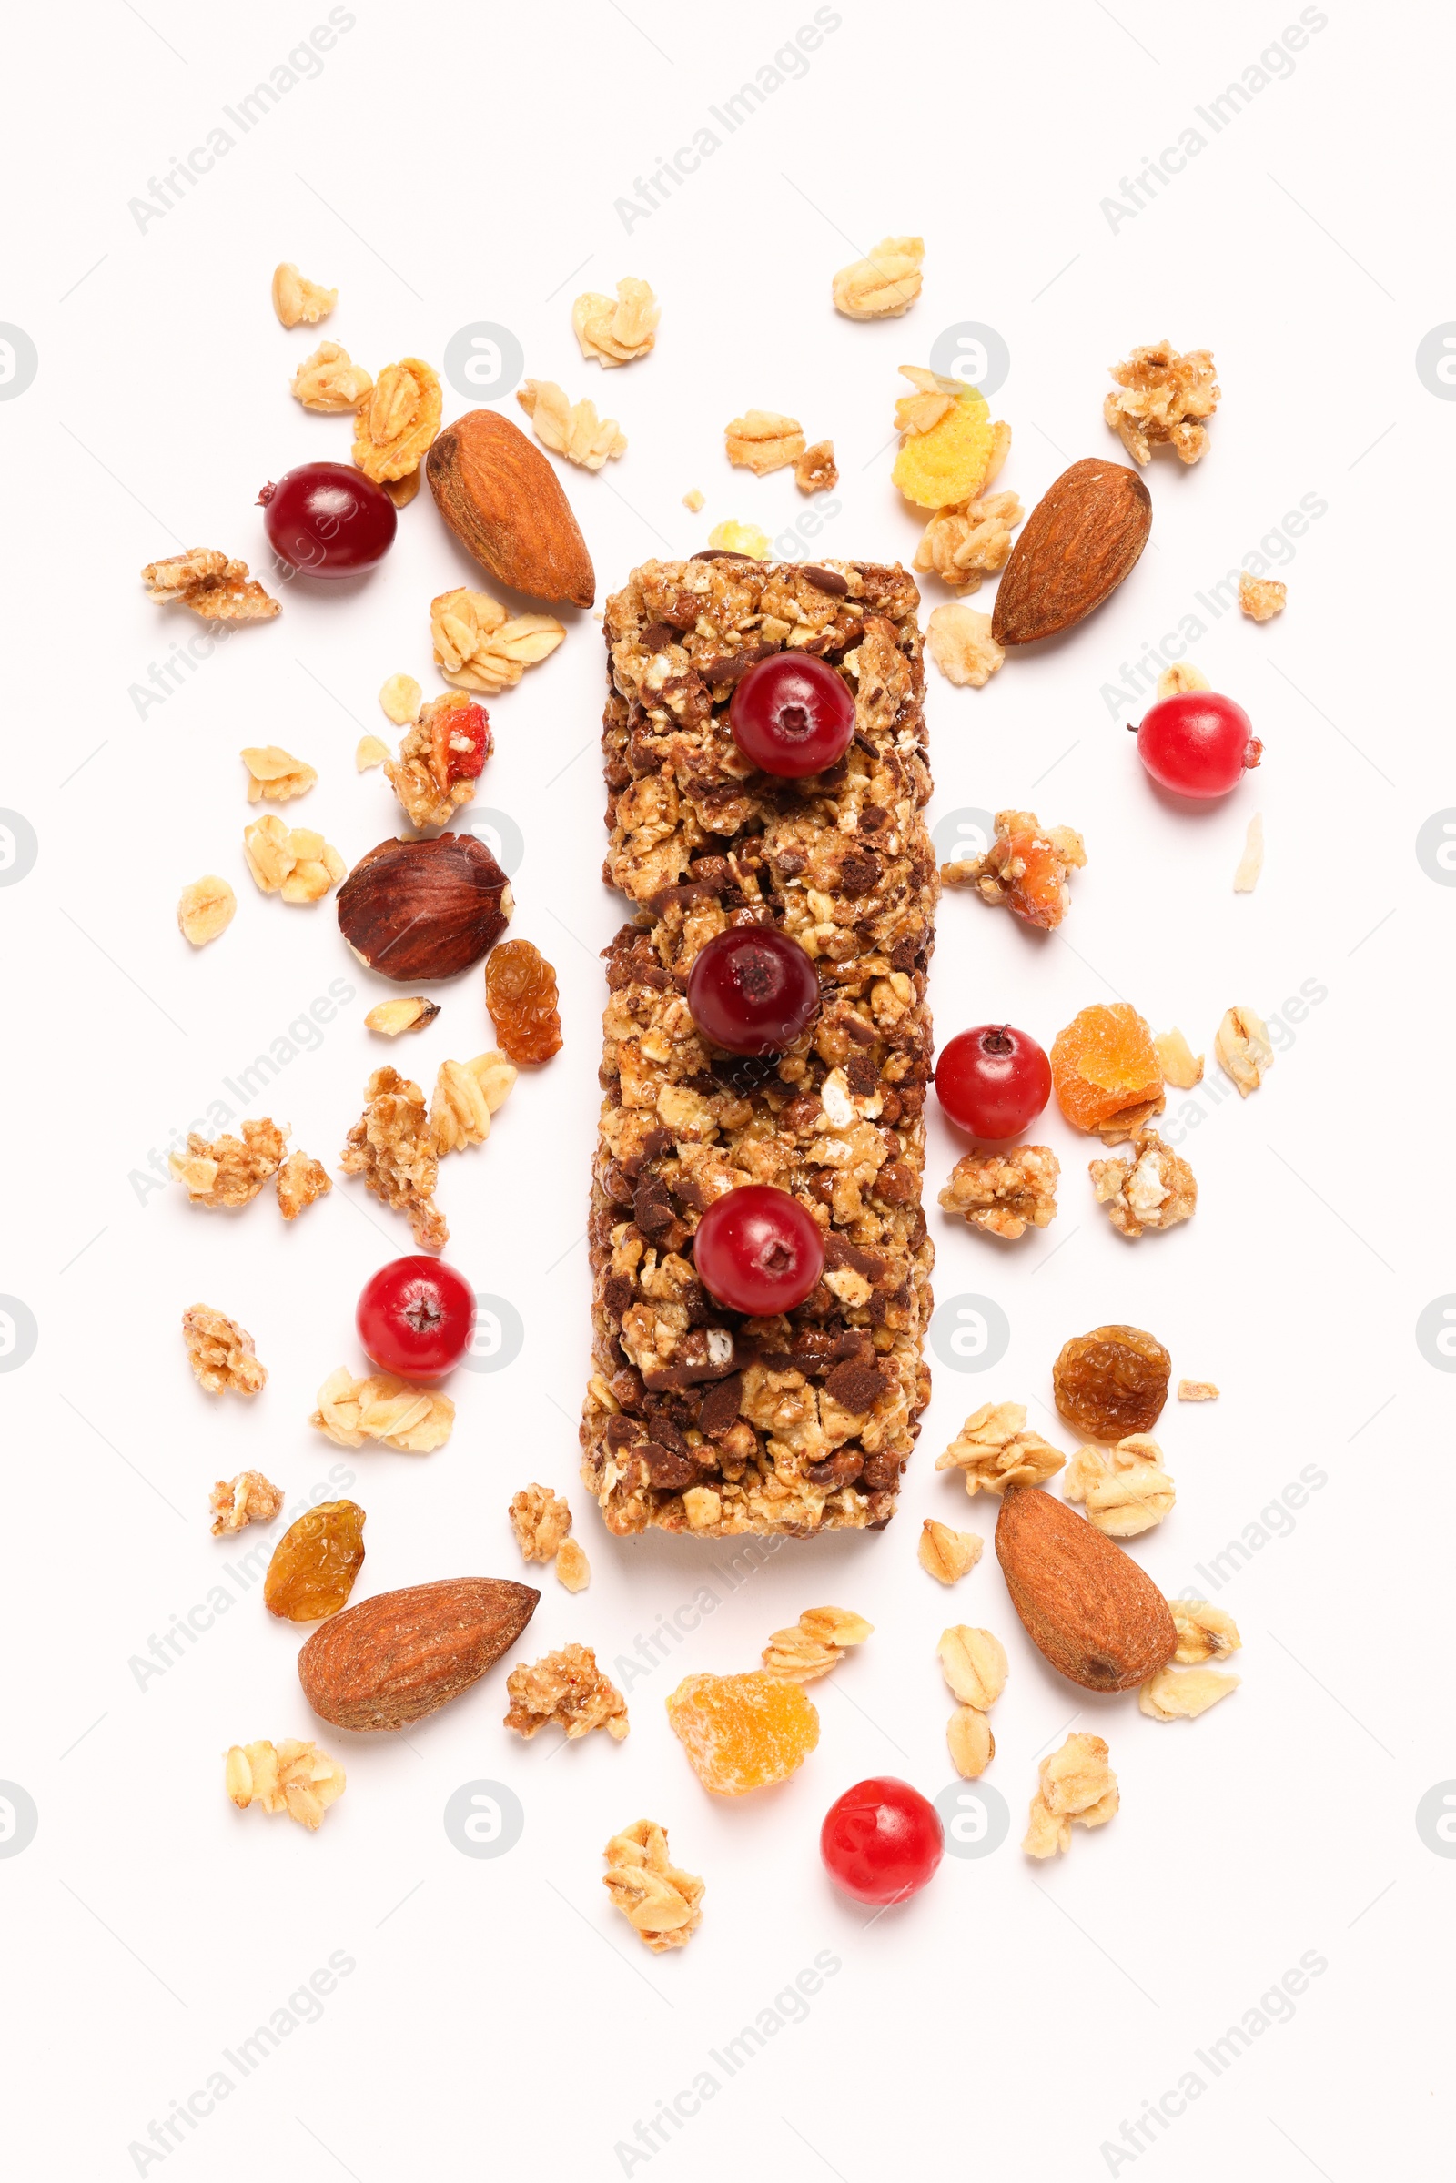
<path fill-rule="evenodd" d="M 605 950 L 581 1443 L 613 1532 L 805 1537 L 895 1511 L 934 1262 L 917 607 L 902 568 L 738 554 L 648 561 L 607 600 L 602 875 L 635 917 Z M 727 725 L 738 677 L 784 648 L 854 692 L 854 742 L 810 779 L 755 773 Z M 729 923 L 777 923 L 819 967 L 821 1013 L 779 1057 L 714 1052 L 688 1015 L 688 969 Z M 775 1319 L 723 1310 L 692 1266 L 701 1212 L 744 1181 L 795 1192 L 825 1236 L 823 1281 Z"/>

